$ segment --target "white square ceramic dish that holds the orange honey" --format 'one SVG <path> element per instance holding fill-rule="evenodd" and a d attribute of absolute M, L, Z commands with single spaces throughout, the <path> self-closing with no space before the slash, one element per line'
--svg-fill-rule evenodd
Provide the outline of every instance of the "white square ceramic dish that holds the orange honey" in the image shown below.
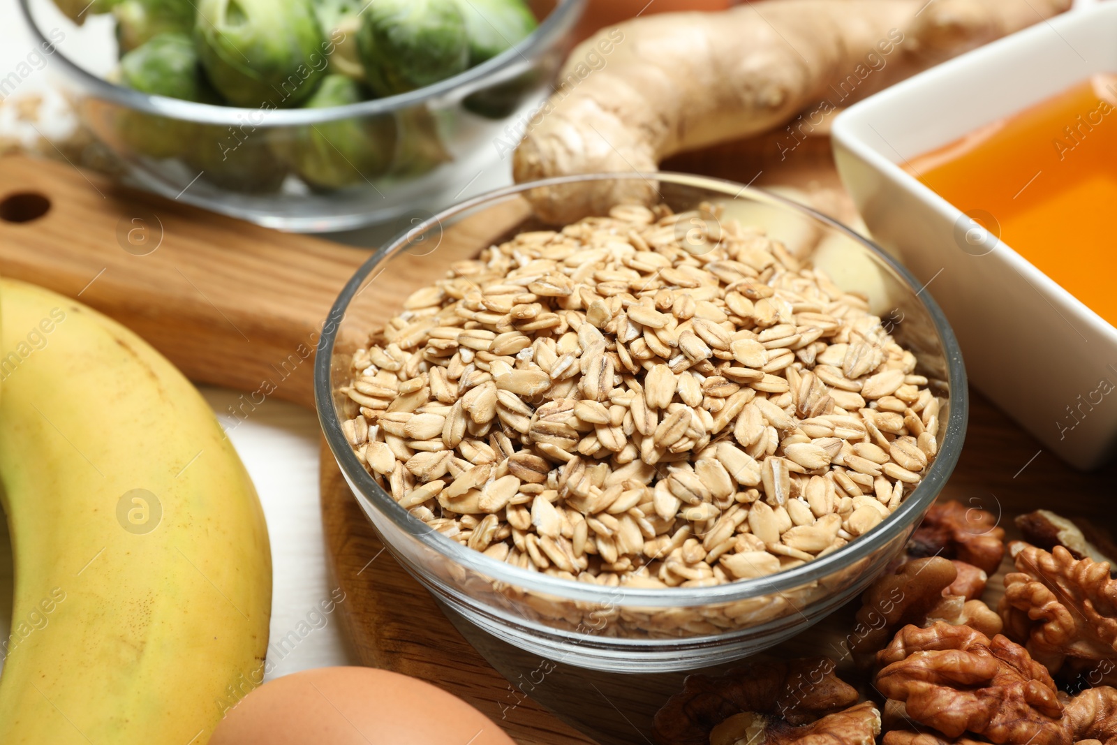
<path fill-rule="evenodd" d="M 927 283 L 974 385 L 1046 449 L 1082 469 L 1101 465 L 1117 445 L 1117 395 L 1110 394 L 1117 392 L 1117 328 L 999 241 L 995 216 L 990 220 L 981 204 L 962 204 L 963 212 L 901 166 L 1092 74 L 1114 71 L 1117 3 L 1105 3 L 1037 23 L 878 93 L 842 113 L 832 131 L 838 171 L 866 225 Z M 1117 255 L 1097 267 L 1115 269 Z"/>

